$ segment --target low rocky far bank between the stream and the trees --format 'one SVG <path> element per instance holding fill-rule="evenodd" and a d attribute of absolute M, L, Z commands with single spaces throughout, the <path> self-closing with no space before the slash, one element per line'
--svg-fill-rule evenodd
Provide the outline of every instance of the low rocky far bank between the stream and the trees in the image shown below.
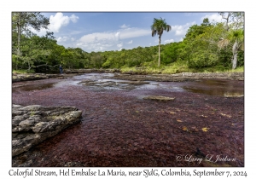
<path fill-rule="evenodd" d="M 65 71 L 63 74 L 45 74 L 45 73 L 27 73 L 27 74 L 13 74 L 12 82 L 48 79 L 48 78 L 71 78 L 75 75 L 91 73 L 91 72 L 105 72 L 114 73 L 111 78 L 127 79 L 131 81 L 166 81 L 166 82 L 182 82 L 196 79 L 228 79 L 228 80 L 244 80 L 244 72 L 181 72 L 176 74 L 140 74 L 139 72 L 119 72 L 117 69 L 110 71 L 97 69 L 80 69 Z"/>

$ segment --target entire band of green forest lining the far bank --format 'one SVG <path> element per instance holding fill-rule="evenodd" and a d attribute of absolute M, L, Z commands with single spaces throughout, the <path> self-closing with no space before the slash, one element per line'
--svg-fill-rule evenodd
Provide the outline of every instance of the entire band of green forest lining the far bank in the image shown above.
<path fill-rule="evenodd" d="M 53 32 L 39 37 L 32 29 L 47 29 L 49 19 L 40 13 L 12 13 L 12 69 L 54 72 L 65 69 L 148 69 L 166 73 L 224 71 L 244 66 L 244 14 L 219 13 L 224 23 L 190 26 L 182 42 L 104 52 L 85 52 L 57 44 Z M 172 26 L 172 25 L 171 25 Z M 148 28 L 150 25 L 148 25 Z M 150 34 L 148 34 L 148 38 Z"/>

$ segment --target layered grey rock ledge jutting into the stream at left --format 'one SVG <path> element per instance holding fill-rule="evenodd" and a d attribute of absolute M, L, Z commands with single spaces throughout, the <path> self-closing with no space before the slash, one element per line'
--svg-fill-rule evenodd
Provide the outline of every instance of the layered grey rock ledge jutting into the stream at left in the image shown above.
<path fill-rule="evenodd" d="M 77 107 L 44 107 L 13 105 L 12 156 L 55 136 L 61 130 L 80 121 L 82 112 Z"/>

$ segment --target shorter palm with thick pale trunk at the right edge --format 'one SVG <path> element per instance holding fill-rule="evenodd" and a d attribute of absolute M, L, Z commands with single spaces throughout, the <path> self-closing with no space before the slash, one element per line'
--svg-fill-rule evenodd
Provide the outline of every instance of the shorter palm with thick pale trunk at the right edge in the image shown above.
<path fill-rule="evenodd" d="M 218 47 L 223 49 L 232 43 L 232 69 L 236 69 L 238 50 L 244 50 L 244 31 L 243 29 L 232 30 L 228 33 L 227 38 L 221 38 L 218 42 Z"/>

